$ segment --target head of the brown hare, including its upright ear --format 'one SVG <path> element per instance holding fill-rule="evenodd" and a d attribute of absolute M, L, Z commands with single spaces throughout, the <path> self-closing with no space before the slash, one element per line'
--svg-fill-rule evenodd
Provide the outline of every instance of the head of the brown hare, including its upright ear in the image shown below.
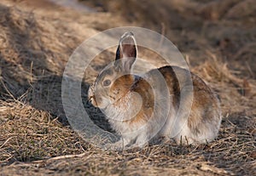
<path fill-rule="evenodd" d="M 101 71 L 89 88 L 88 98 L 92 105 L 104 109 L 128 93 L 135 79 L 131 67 L 136 57 L 135 38 L 131 32 L 125 32 L 119 40 L 115 60 Z"/>

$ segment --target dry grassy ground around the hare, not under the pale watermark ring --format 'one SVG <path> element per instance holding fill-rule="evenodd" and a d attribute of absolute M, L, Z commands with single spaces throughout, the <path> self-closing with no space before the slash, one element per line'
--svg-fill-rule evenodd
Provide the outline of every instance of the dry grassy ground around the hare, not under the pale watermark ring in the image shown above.
<path fill-rule="evenodd" d="M 254 0 L 52 2 L 0 2 L 0 175 L 256 175 Z M 218 139 L 108 151 L 73 131 L 61 104 L 67 60 L 86 38 L 117 26 L 146 27 L 177 46 L 221 99 Z M 113 58 L 107 51 L 92 62 L 83 99 Z M 84 107 L 109 129 L 99 110 Z"/>

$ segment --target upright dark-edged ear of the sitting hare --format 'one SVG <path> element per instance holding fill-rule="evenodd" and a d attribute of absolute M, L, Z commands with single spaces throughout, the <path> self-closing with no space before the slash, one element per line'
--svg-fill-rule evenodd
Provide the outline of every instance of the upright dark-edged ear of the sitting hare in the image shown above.
<path fill-rule="evenodd" d="M 116 51 L 115 65 L 122 71 L 131 71 L 131 66 L 137 57 L 137 44 L 131 32 L 125 32 L 119 41 Z"/>

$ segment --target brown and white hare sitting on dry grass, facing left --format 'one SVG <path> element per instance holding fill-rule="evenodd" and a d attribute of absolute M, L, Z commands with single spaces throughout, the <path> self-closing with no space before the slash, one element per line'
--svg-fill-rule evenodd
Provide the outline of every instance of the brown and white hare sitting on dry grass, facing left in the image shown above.
<path fill-rule="evenodd" d="M 96 82 L 89 88 L 88 99 L 91 104 L 106 112 L 108 122 L 122 137 L 122 140 L 107 147 L 113 149 L 125 146 L 142 147 L 150 139 L 162 137 L 175 139 L 177 143 L 201 144 L 217 137 L 221 122 L 219 101 L 212 89 L 200 77 L 188 70 L 170 65 L 137 76 L 131 74 L 136 59 L 135 37 L 131 32 L 125 32 L 120 38 L 114 62 L 98 75 Z M 157 71 L 160 71 L 164 77 L 172 97 L 166 120 L 154 113 L 154 91 L 144 79 L 144 77 L 154 77 L 154 72 Z M 189 79 L 193 82 L 193 99 L 190 107 L 181 110 L 188 112 L 185 120 L 177 116 L 182 89 L 177 74 L 183 77 L 189 75 Z M 160 128 L 157 125 L 159 123 L 162 123 Z"/>

